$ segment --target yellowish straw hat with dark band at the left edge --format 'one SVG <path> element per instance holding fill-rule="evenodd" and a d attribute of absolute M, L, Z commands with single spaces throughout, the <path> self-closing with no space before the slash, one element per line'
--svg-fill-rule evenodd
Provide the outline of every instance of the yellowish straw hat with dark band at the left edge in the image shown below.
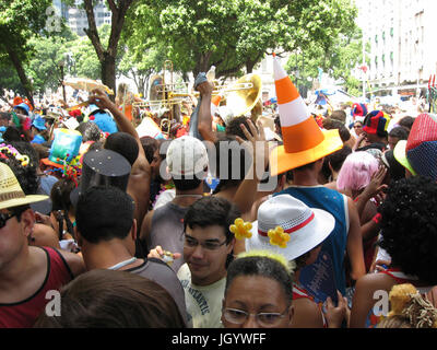
<path fill-rule="evenodd" d="M 0 162 L 0 209 L 29 205 L 46 199 L 48 199 L 48 196 L 24 195 L 12 170 Z"/>

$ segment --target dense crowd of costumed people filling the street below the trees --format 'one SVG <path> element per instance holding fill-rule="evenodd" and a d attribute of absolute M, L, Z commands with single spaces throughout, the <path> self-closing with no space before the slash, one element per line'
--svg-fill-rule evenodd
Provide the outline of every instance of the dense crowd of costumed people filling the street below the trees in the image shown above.
<path fill-rule="evenodd" d="M 273 77 L 269 115 L 7 98 L 0 327 L 437 327 L 437 116 Z"/>

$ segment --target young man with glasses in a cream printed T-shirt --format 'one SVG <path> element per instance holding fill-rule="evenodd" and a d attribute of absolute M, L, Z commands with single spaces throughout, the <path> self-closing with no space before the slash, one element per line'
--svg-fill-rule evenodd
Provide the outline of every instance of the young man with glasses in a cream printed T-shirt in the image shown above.
<path fill-rule="evenodd" d="M 194 328 L 218 328 L 226 269 L 235 245 L 229 225 L 238 209 L 220 197 L 192 203 L 184 219 L 184 259 L 178 278 L 185 290 L 187 313 Z"/>

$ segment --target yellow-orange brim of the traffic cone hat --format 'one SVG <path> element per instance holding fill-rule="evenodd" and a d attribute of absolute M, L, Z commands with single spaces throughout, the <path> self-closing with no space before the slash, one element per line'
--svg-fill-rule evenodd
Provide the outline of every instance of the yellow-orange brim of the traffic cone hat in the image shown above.
<path fill-rule="evenodd" d="M 285 152 L 284 145 L 279 145 L 270 153 L 271 176 L 283 174 L 292 168 L 316 162 L 343 148 L 339 130 L 324 130 L 324 140 L 315 148 L 296 152 Z"/>

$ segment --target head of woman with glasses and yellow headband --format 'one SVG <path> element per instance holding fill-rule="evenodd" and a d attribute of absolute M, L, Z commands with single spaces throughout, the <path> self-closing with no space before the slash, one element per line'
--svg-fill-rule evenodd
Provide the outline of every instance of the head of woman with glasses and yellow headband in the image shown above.
<path fill-rule="evenodd" d="M 287 328 L 293 318 L 293 270 L 279 254 L 243 253 L 226 277 L 222 324 L 226 328 Z"/>

